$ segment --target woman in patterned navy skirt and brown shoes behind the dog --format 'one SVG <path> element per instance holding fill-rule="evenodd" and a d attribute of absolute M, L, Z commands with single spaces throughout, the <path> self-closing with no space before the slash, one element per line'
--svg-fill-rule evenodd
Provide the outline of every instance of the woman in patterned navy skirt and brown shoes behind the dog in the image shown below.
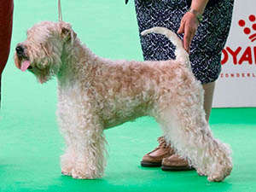
<path fill-rule="evenodd" d="M 125 3 L 128 1 L 125 0 Z M 230 32 L 234 0 L 135 0 L 139 31 L 166 27 L 183 38 L 192 71 L 205 90 L 204 109 L 209 120 L 215 81 L 221 71 L 221 53 Z M 174 59 L 174 46 L 159 34 L 140 36 L 144 60 Z M 159 147 L 145 154 L 142 166 L 163 170 L 189 170 L 186 160 L 160 137 Z"/>

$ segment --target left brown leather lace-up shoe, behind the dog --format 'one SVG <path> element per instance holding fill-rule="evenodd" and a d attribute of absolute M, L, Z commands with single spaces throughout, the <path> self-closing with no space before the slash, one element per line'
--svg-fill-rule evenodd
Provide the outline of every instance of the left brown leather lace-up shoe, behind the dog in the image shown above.
<path fill-rule="evenodd" d="M 166 144 L 164 137 L 159 137 L 157 141 L 159 142 L 159 146 L 143 156 L 141 166 L 161 166 L 162 160 L 165 157 L 169 157 L 174 154 L 174 150 L 170 147 L 170 145 Z"/>

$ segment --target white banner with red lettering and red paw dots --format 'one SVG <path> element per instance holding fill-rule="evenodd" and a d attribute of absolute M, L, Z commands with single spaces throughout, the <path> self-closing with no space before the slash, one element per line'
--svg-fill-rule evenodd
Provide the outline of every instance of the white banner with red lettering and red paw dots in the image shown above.
<path fill-rule="evenodd" d="M 235 0 L 213 108 L 256 107 L 256 0 Z"/>

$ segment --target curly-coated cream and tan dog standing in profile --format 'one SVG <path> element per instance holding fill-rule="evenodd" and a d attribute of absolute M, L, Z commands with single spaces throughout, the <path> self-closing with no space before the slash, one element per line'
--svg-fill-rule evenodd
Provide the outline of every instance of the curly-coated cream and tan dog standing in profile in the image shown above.
<path fill-rule="evenodd" d="M 67 148 L 61 171 L 74 178 L 102 177 L 106 166 L 103 131 L 141 116 L 160 124 L 166 142 L 209 181 L 230 175 L 230 149 L 212 137 L 203 110 L 203 89 L 191 72 L 189 55 L 166 28 L 176 60 L 112 61 L 81 44 L 70 24 L 44 21 L 16 47 L 15 65 L 40 83 L 58 79 L 57 116 Z"/>

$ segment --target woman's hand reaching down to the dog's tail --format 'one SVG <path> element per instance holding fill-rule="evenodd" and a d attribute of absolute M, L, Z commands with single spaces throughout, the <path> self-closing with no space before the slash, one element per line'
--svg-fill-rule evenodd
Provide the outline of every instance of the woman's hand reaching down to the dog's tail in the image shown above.
<path fill-rule="evenodd" d="M 179 29 L 177 30 L 178 34 L 184 33 L 183 47 L 188 53 L 190 53 L 190 44 L 195 36 L 198 25 L 199 21 L 196 16 L 187 12 L 183 15 L 183 19 L 181 20 Z"/>

